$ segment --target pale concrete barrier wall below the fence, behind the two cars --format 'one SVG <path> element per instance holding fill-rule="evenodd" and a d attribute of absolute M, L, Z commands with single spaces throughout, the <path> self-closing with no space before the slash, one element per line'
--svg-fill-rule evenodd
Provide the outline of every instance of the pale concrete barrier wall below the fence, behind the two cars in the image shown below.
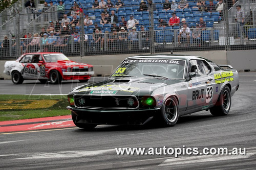
<path fill-rule="evenodd" d="M 161 53 L 170 54 L 170 53 Z M 202 51 L 202 52 L 179 52 L 174 54 L 182 55 L 195 55 L 205 57 L 209 60 L 216 62 L 217 64 L 231 64 L 235 69 L 255 70 L 255 55 L 256 51 Z M 85 57 L 69 57 L 71 60 L 82 63 L 89 63 L 94 66 L 94 76 L 109 76 L 112 71 L 121 63 L 121 61 L 130 56 L 136 56 L 140 54 L 117 54 L 117 55 L 105 55 L 105 56 L 85 56 Z M 145 55 L 145 54 L 143 54 Z M 228 59 L 227 59 L 228 56 Z M 243 56 L 243 58 L 241 57 Z M 0 78 L 10 79 L 10 76 L 4 75 L 4 64 L 7 60 L 0 60 Z M 246 61 L 246 62 L 243 62 Z M 252 61 L 252 62 L 251 62 Z M 241 64 L 243 63 L 243 64 Z"/>

